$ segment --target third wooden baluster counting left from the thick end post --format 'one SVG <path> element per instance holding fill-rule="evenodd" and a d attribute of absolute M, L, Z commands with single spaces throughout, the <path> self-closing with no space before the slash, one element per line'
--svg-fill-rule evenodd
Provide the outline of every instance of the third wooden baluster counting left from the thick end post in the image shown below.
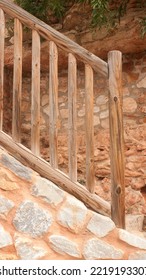
<path fill-rule="evenodd" d="M 50 164 L 58 168 L 58 50 L 54 42 L 50 42 L 50 76 L 49 76 L 49 143 Z"/>

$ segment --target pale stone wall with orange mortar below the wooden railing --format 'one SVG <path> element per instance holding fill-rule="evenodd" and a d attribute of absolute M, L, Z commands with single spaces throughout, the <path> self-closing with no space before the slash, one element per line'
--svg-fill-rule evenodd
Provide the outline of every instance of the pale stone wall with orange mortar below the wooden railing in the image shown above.
<path fill-rule="evenodd" d="M 0 148 L 1 260 L 144 260 L 143 218 L 118 229 Z"/>

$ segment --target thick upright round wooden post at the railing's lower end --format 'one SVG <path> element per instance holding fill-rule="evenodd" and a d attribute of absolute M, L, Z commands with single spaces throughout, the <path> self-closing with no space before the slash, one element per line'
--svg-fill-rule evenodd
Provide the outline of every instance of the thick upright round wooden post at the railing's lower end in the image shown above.
<path fill-rule="evenodd" d="M 125 228 L 124 130 L 122 116 L 122 54 L 108 54 L 109 122 L 111 157 L 111 216 L 117 227 Z"/>

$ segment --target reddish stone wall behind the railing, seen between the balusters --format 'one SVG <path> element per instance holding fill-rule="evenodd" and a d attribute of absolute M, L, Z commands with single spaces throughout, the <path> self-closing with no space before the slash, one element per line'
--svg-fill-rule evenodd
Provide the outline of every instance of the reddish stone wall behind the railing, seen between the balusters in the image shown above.
<path fill-rule="evenodd" d="M 9 76 L 9 79 L 8 79 Z M 5 83 L 4 130 L 11 131 L 12 74 Z M 49 161 L 49 77 L 41 77 L 41 155 Z M 30 147 L 31 77 L 23 77 L 22 143 Z M 123 116 L 125 136 L 125 183 L 127 213 L 146 213 L 141 190 L 146 185 L 146 52 L 123 56 Z M 59 168 L 68 172 L 67 70 L 59 72 Z M 108 81 L 94 77 L 94 127 L 96 193 L 110 200 Z M 84 71 L 78 69 L 77 135 L 78 180 L 85 183 L 85 89 Z M 46 128 L 47 127 L 47 128 Z"/>

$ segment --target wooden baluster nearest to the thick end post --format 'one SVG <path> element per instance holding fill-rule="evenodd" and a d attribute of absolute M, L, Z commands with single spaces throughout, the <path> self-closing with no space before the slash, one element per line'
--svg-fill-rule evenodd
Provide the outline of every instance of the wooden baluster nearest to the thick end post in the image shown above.
<path fill-rule="evenodd" d="M 93 193 L 94 174 L 94 124 L 93 124 L 93 70 L 85 65 L 85 126 L 86 126 L 86 187 Z"/>

